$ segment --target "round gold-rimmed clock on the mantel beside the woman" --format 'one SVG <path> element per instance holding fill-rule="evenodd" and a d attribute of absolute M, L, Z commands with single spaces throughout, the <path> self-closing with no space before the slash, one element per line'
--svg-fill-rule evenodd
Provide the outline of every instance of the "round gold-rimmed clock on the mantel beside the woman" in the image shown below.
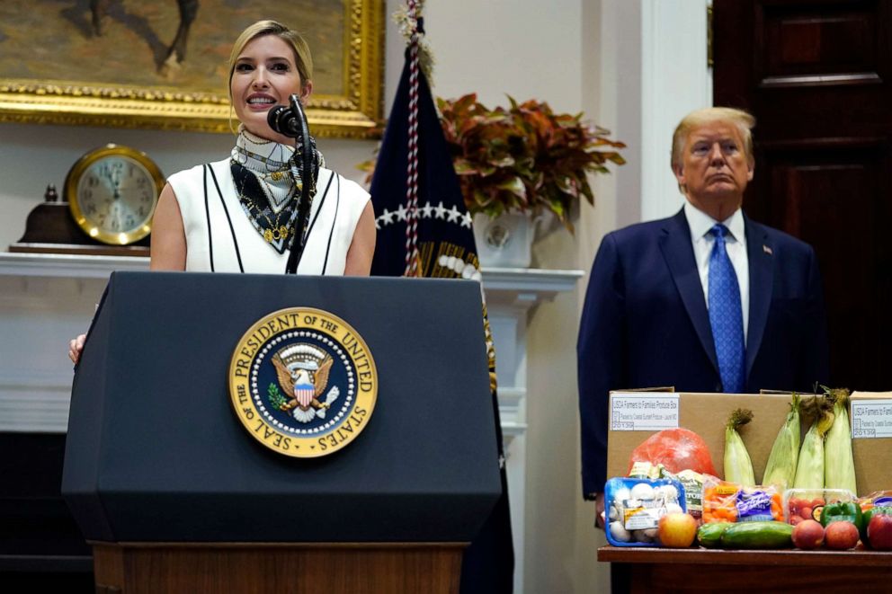
<path fill-rule="evenodd" d="M 71 212 L 91 237 L 132 244 L 152 230 L 163 177 L 145 155 L 107 146 L 85 155 L 69 173 Z"/>

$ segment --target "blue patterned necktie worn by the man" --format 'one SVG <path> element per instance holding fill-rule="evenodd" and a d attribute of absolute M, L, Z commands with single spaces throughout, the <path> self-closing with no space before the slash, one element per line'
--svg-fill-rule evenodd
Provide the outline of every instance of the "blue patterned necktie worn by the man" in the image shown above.
<path fill-rule="evenodd" d="M 716 244 L 709 255 L 709 325 L 716 343 L 718 373 L 727 393 L 745 389 L 744 315 L 740 306 L 740 287 L 731 259 L 727 257 L 727 226 L 709 229 Z"/>

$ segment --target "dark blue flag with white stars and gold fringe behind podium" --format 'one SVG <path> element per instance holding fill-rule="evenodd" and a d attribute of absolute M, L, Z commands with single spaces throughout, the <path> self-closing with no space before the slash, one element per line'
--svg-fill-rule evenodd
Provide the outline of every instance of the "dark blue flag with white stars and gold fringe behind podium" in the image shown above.
<path fill-rule="evenodd" d="M 412 67 L 410 52 L 406 56 L 371 181 L 378 228 L 371 274 L 479 280 L 480 264 L 471 216 L 461 196 L 449 146 L 424 74 Z M 416 84 L 413 79 L 417 80 Z M 462 594 L 513 591 L 514 552 L 495 394 L 495 350 L 486 305 L 481 305 L 485 323 L 481 330 L 485 331 L 492 378 L 502 497 L 465 551 L 459 590 Z"/>

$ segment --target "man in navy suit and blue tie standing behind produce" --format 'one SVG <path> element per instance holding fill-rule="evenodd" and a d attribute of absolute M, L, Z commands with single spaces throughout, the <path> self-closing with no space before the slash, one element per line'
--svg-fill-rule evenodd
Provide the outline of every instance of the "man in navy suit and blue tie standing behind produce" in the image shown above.
<path fill-rule="evenodd" d="M 595 257 L 576 350 L 583 489 L 599 525 L 611 390 L 810 391 L 827 380 L 814 250 L 740 209 L 754 123 L 727 108 L 686 116 L 672 151 L 684 207 L 606 235 Z"/>

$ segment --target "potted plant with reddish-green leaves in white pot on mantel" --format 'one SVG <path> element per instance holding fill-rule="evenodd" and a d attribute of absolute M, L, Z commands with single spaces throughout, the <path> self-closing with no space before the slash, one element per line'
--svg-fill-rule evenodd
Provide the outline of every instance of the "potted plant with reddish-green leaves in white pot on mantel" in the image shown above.
<path fill-rule="evenodd" d="M 531 217 L 552 213 L 573 232 L 570 213 L 584 199 L 594 204 L 590 173 L 624 164 L 621 142 L 587 123 L 582 114 L 555 113 L 547 102 L 489 109 L 471 93 L 438 99 L 446 142 L 468 211 L 475 215 L 477 251 L 504 253 L 506 265 L 529 265 Z M 526 229 L 526 231 L 524 231 Z M 515 246 L 514 255 L 509 244 Z"/>

